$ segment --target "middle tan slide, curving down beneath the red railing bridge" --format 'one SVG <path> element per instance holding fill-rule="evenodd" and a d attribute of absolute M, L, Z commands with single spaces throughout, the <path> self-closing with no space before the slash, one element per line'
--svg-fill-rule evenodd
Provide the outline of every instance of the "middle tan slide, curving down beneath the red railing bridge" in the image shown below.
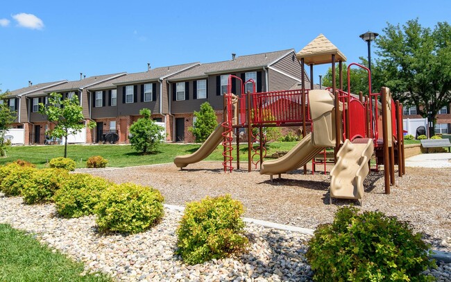
<path fill-rule="evenodd" d="M 322 149 L 324 148 L 313 145 L 312 133 L 309 133 L 286 155 L 277 160 L 265 160 L 262 163 L 260 174 L 282 174 L 298 169 L 312 160 Z"/>

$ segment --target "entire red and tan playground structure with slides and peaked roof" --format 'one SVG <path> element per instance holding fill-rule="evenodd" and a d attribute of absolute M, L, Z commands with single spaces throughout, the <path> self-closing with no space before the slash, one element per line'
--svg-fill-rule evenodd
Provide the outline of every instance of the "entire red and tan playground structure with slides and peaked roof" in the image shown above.
<path fill-rule="evenodd" d="M 246 128 L 248 142 L 248 171 L 260 165 L 260 174 L 271 176 L 304 167 L 326 147 L 334 147 L 335 165 L 330 196 L 344 199 L 361 199 L 363 181 L 370 171 L 373 151 L 376 156 L 375 169 L 384 165 L 385 193 L 395 184 L 394 165 L 398 164 L 399 176 L 405 174 L 404 142 L 402 139 L 402 105 L 391 99 L 388 88 L 380 93 L 371 90 L 370 70 L 362 65 L 348 65 L 348 92 L 343 91 L 342 63 L 346 57 L 323 35 L 296 54 L 301 65 L 301 89 L 275 92 L 255 92 L 253 80 L 241 81 L 229 76 L 228 92 L 224 93 L 223 122 L 210 138 L 194 154 L 178 156 L 174 163 L 185 167 L 202 160 L 223 144 L 223 167 L 232 172 L 232 133 L 237 139 L 239 129 Z M 335 77 L 335 63 L 339 62 L 339 88 L 332 83 L 326 90 L 314 90 L 313 66 L 332 64 Z M 305 65 L 310 66 L 311 89 L 305 89 Z M 350 67 L 361 67 L 368 72 L 368 94 L 364 97 L 350 92 Z M 231 93 L 232 79 L 241 84 L 241 95 Z M 253 92 L 244 92 L 246 83 L 253 83 Z M 303 140 L 282 158 L 265 160 L 263 128 L 270 126 L 300 126 Z M 307 134 L 307 126 L 310 133 Z M 253 133 L 256 128 L 258 133 Z M 208 143 L 208 144 L 207 144 Z M 255 146 L 253 144 L 257 144 Z M 239 169 L 239 142 L 236 142 L 236 164 Z M 397 154 L 395 154 L 395 152 Z M 257 158 L 256 158 L 257 157 Z"/>

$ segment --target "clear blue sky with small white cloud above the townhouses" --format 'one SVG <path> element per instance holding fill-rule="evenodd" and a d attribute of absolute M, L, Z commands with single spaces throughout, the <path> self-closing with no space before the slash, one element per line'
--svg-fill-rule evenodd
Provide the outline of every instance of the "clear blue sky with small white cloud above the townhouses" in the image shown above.
<path fill-rule="evenodd" d="M 330 10 L 330 11 L 329 11 Z M 368 30 L 450 21 L 451 1 L 2 1 L 0 89 L 305 47 L 323 33 L 348 58 Z M 373 58 L 374 58 L 373 54 Z M 314 68 L 314 79 L 329 65 Z"/>

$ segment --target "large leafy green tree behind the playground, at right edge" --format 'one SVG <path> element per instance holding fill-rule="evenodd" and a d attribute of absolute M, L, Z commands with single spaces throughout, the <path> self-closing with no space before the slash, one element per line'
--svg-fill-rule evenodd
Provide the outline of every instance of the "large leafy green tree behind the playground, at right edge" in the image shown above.
<path fill-rule="evenodd" d="M 388 24 L 375 40 L 382 79 L 393 97 L 420 108 L 436 122 L 439 110 L 451 102 L 451 26 L 439 22 L 425 28 L 418 19 L 400 26 Z M 434 135 L 434 127 L 429 128 Z"/>

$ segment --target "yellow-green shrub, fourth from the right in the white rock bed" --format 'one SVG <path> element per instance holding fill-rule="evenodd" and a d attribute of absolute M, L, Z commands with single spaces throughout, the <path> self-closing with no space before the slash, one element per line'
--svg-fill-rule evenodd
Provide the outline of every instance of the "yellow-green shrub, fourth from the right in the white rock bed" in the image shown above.
<path fill-rule="evenodd" d="M 55 192 L 56 210 L 63 217 L 92 215 L 103 190 L 114 184 L 90 174 L 69 174 Z"/>

